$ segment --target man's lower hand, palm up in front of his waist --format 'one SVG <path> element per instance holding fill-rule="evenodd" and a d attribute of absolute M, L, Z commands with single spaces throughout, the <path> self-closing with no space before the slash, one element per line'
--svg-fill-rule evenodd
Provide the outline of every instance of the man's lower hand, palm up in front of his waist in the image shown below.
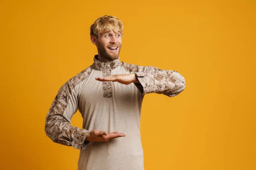
<path fill-rule="evenodd" d="M 111 139 L 115 139 L 118 137 L 125 136 L 124 133 L 111 132 L 107 133 L 106 131 L 101 130 L 91 130 L 90 133 L 87 134 L 85 140 L 86 141 L 96 141 L 96 142 L 106 142 Z"/>

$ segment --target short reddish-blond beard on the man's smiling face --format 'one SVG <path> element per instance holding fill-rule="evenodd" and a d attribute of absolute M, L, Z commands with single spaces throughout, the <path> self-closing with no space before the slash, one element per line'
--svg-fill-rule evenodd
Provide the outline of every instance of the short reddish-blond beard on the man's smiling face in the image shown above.
<path fill-rule="evenodd" d="M 114 45 L 114 46 L 118 45 L 118 48 L 117 48 L 118 51 L 117 52 L 110 51 L 108 49 L 108 47 L 103 47 L 100 43 L 98 45 L 99 45 L 99 53 L 100 53 L 102 58 L 109 59 L 109 60 L 118 59 L 122 45 L 120 45 L 120 44 Z"/>

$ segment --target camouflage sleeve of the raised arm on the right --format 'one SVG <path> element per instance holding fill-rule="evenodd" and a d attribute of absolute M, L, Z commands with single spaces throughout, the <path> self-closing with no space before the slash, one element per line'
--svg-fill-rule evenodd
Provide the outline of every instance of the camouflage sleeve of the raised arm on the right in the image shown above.
<path fill-rule="evenodd" d="M 135 75 L 140 81 L 140 85 L 134 84 L 143 95 L 157 93 L 173 97 L 180 94 L 186 86 L 184 77 L 173 70 L 161 70 L 153 66 L 139 66 Z"/>

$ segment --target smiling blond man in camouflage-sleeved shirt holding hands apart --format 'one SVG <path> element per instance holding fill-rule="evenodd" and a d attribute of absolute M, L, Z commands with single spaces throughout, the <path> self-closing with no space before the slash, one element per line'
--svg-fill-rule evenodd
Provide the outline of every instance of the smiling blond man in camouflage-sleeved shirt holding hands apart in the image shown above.
<path fill-rule="evenodd" d="M 90 27 L 98 55 L 93 64 L 58 91 L 45 122 L 53 142 L 80 149 L 78 170 L 144 170 L 140 111 L 145 94 L 180 94 L 185 79 L 177 71 L 119 60 L 123 25 L 105 15 Z M 79 110 L 83 128 L 71 126 Z"/>

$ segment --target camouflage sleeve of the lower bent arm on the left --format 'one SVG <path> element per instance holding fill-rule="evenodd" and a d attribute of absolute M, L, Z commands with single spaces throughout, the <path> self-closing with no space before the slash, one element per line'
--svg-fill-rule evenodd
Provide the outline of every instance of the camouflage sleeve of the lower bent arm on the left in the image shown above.
<path fill-rule="evenodd" d="M 76 89 L 66 82 L 58 91 L 45 121 L 45 133 L 53 142 L 76 149 L 85 149 L 88 141 L 85 141 L 86 129 L 71 126 L 71 118 L 78 110 L 78 98 Z"/>

